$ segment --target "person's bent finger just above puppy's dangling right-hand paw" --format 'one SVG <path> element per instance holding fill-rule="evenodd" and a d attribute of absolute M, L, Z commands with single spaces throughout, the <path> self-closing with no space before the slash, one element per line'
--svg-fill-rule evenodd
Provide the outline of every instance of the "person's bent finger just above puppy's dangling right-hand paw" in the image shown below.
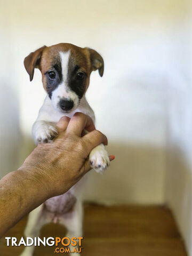
<path fill-rule="evenodd" d="M 87 151 L 89 151 L 89 153 L 93 148 L 97 147 L 101 143 L 103 143 L 104 145 L 108 144 L 106 135 L 102 134 L 98 130 L 87 133 L 86 135 L 84 135 L 84 137 L 82 137 L 82 140 L 84 141 L 86 149 Z"/>

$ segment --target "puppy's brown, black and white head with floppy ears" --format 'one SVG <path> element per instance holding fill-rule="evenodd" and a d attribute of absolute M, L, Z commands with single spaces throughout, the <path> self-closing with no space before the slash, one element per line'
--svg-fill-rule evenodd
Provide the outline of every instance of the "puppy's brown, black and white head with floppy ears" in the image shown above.
<path fill-rule="evenodd" d="M 43 46 L 31 52 L 24 65 L 30 81 L 33 80 L 34 69 L 41 70 L 43 86 L 53 107 L 63 113 L 78 107 L 89 86 L 91 72 L 98 69 L 102 76 L 104 70 L 103 59 L 98 52 L 67 43 Z"/>

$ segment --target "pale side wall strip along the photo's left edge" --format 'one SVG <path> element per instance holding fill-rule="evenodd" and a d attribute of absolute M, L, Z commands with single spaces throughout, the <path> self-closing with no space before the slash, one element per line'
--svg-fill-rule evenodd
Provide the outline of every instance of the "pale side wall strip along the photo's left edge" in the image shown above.
<path fill-rule="evenodd" d="M 19 99 L 15 83 L 18 76 L 12 62 L 11 31 L 5 30 L 5 26 L 6 19 L 0 15 L 0 178 L 17 169 L 20 146 Z"/>

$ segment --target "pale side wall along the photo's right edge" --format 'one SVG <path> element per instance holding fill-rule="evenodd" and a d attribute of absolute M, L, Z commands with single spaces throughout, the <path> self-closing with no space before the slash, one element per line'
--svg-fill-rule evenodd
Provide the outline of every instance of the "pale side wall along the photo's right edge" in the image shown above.
<path fill-rule="evenodd" d="M 191 12 L 190 4 L 189 11 Z M 167 76 L 165 172 L 165 203 L 174 214 L 189 256 L 192 255 L 191 25 L 190 13 L 183 20 L 182 29 L 172 35 L 177 74 L 170 72 Z"/>

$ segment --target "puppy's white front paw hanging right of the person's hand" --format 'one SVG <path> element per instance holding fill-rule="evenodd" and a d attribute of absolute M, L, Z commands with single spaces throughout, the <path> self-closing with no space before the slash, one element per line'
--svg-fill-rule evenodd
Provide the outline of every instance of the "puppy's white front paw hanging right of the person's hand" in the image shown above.
<path fill-rule="evenodd" d="M 107 150 L 103 144 L 93 148 L 89 156 L 90 165 L 96 172 L 103 172 L 110 164 Z"/>

